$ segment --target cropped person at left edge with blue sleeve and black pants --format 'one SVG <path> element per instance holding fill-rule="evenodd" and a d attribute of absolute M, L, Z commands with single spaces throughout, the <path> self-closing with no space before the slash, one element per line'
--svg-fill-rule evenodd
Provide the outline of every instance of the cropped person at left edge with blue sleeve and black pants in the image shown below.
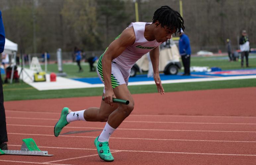
<path fill-rule="evenodd" d="M 5 45 L 5 31 L 4 24 L 2 20 L 2 13 L 0 11 L 0 53 L 4 51 Z M 3 85 L 2 78 L 0 74 L 0 149 L 7 150 L 7 130 L 6 130 L 6 118 L 4 110 L 4 94 L 3 94 Z"/>

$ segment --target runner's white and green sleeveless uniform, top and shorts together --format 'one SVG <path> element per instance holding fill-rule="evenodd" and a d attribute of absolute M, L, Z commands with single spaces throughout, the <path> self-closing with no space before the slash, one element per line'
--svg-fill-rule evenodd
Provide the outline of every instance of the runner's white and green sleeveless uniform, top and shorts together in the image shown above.
<path fill-rule="evenodd" d="M 147 22 L 132 22 L 127 28 L 133 27 L 135 32 L 135 42 L 133 45 L 126 47 L 126 49 L 112 61 L 111 67 L 111 84 L 112 88 L 115 88 L 121 84 L 128 84 L 130 75 L 130 69 L 144 54 L 147 54 L 152 49 L 158 47 L 161 43 L 154 41 L 148 41 L 144 37 L 145 26 L 151 24 Z M 116 37 L 116 39 L 118 39 Z M 107 49 L 106 49 L 107 50 Z M 106 52 L 105 50 L 105 52 Z M 104 53 L 105 53 L 104 52 Z M 104 83 L 103 71 L 102 71 L 102 57 L 104 53 L 99 57 L 97 63 L 97 73 L 100 80 Z"/>

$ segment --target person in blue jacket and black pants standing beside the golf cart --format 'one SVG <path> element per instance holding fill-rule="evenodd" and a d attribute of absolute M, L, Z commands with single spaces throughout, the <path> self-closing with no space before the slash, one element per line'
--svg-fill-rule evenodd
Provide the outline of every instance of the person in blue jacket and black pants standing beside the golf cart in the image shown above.
<path fill-rule="evenodd" d="M 191 55 L 191 48 L 189 43 L 188 36 L 184 33 L 183 30 L 180 31 L 179 34 L 179 53 L 181 55 L 181 60 L 184 66 L 184 74 L 183 76 L 190 75 L 190 55 Z"/>

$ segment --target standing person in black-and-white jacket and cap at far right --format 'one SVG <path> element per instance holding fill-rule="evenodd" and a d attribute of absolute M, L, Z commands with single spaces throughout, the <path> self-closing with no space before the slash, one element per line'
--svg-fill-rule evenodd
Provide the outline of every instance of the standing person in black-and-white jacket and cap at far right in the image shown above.
<path fill-rule="evenodd" d="M 249 38 L 246 35 L 246 30 L 242 31 L 242 36 L 239 39 L 240 50 L 241 50 L 241 67 L 243 67 L 243 57 L 246 59 L 246 67 L 249 67 L 249 51 L 250 51 L 250 42 Z"/>

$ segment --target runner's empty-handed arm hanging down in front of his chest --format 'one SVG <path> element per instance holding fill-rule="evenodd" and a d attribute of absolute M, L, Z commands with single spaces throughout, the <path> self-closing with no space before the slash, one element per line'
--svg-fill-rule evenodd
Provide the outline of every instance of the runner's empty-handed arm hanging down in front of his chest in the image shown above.
<path fill-rule="evenodd" d="M 163 86 L 159 75 L 159 46 L 150 51 L 150 59 L 154 71 L 154 80 L 157 85 L 158 93 L 164 94 Z"/>

